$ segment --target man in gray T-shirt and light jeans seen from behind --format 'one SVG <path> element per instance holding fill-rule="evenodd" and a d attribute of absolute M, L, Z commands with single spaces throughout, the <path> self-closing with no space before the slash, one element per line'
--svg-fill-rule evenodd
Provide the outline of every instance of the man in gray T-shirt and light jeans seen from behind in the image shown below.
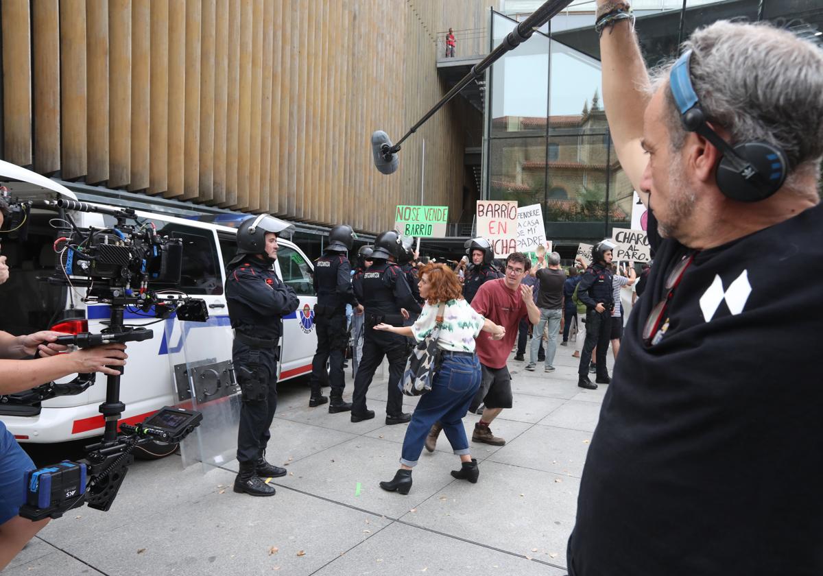
<path fill-rule="evenodd" d="M 537 308 L 540 309 L 540 322 L 534 327 L 532 332 L 532 346 L 528 359 L 527 370 L 535 368 L 537 349 L 543 337 L 543 330 L 546 324 L 549 327 L 548 340 L 546 340 L 546 372 L 555 371 L 555 353 L 557 351 L 557 334 L 561 330 L 563 323 L 563 284 L 565 282 L 565 272 L 560 268 L 560 254 L 552 252 L 546 258 L 548 266 L 537 267 L 532 271 L 532 275 L 537 277 L 540 286 L 537 289 Z"/>

